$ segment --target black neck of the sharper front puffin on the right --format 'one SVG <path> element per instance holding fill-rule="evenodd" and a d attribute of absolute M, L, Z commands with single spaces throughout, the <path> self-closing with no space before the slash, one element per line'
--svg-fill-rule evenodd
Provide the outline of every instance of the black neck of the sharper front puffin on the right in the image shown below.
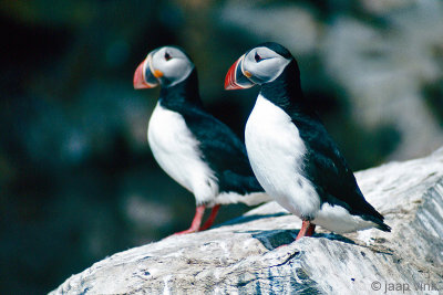
<path fill-rule="evenodd" d="M 284 72 L 272 82 L 261 84 L 261 96 L 291 114 L 305 104 L 300 85 L 300 70 L 296 60 L 286 66 Z"/>

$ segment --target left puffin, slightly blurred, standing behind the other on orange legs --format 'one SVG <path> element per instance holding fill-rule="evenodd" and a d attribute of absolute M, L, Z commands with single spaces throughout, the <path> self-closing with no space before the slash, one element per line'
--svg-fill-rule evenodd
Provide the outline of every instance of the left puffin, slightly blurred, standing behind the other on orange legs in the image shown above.
<path fill-rule="evenodd" d="M 210 228 L 220 204 L 270 200 L 254 176 L 244 143 L 205 110 L 196 67 L 181 48 L 151 51 L 137 66 L 133 85 L 135 89 L 161 86 L 147 140 L 159 167 L 196 200 L 189 229 L 175 234 Z M 212 212 L 202 225 L 206 208 Z"/>

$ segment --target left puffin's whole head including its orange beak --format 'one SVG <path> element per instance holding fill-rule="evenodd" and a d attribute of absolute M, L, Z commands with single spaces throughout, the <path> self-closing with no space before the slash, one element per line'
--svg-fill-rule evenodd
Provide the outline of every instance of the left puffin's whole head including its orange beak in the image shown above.
<path fill-rule="evenodd" d="M 163 46 L 151 51 L 134 73 L 134 88 L 174 86 L 184 81 L 194 69 L 186 53 L 176 46 Z"/>

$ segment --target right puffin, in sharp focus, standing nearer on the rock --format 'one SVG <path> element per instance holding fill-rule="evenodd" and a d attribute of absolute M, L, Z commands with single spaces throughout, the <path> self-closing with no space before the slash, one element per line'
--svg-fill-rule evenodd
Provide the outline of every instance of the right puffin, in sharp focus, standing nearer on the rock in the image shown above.
<path fill-rule="evenodd" d="M 316 225 L 348 233 L 390 226 L 363 197 L 352 170 L 303 96 L 296 59 L 282 45 L 259 44 L 228 70 L 225 89 L 260 85 L 245 127 L 250 165 L 265 191 L 302 220 L 296 241 Z"/>

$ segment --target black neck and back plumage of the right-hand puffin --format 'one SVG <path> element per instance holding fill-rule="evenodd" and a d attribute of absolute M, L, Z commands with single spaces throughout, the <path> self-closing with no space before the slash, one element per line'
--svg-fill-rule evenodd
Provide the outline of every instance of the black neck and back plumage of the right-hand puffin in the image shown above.
<path fill-rule="evenodd" d="M 260 93 L 282 108 L 297 126 L 307 148 L 302 173 L 316 188 L 321 202 L 341 206 L 351 214 L 361 215 L 379 224 L 381 230 L 389 231 L 383 217 L 364 200 L 352 170 L 317 113 L 305 99 L 296 60 L 291 57 L 281 75 L 264 84 Z"/>

